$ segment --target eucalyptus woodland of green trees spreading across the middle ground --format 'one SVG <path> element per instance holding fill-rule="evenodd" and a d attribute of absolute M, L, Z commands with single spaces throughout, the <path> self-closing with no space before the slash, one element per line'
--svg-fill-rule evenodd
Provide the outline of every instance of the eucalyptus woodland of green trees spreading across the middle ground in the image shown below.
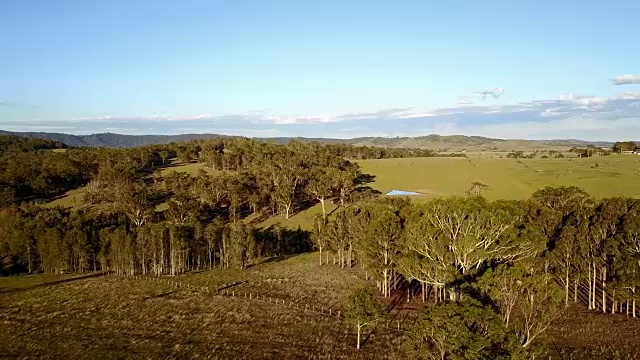
<path fill-rule="evenodd" d="M 400 291 L 437 304 L 407 334 L 415 358 L 457 358 L 460 349 L 475 358 L 538 356 L 546 329 L 573 302 L 638 316 L 637 199 L 559 187 L 527 200 L 470 191 L 411 202 L 380 197 L 351 161 L 437 156 L 416 149 L 229 138 L 54 152 L 56 143 L 14 142 L 0 157 L 3 274 L 177 275 L 315 249 L 318 266 L 365 269 L 383 298 Z M 166 172 L 175 162 L 210 171 Z M 78 186 L 88 206 L 39 204 Z M 310 231 L 253 226 L 317 203 Z M 358 334 L 384 316 L 365 291 L 350 301 Z"/>

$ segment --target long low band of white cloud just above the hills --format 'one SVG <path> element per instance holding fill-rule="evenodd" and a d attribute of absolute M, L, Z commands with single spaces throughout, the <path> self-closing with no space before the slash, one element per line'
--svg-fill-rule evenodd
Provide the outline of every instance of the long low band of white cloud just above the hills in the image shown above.
<path fill-rule="evenodd" d="M 464 97 L 461 97 L 463 100 Z M 271 110 L 238 114 L 96 116 L 74 120 L 10 121 L 0 129 L 73 134 L 218 133 L 245 136 L 419 136 L 429 133 L 501 138 L 640 140 L 640 92 L 602 97 L 564 94 L 515 104 L 462 101 L 448 108 L 392 108 L 333 115 L 290 115 Z"/>

